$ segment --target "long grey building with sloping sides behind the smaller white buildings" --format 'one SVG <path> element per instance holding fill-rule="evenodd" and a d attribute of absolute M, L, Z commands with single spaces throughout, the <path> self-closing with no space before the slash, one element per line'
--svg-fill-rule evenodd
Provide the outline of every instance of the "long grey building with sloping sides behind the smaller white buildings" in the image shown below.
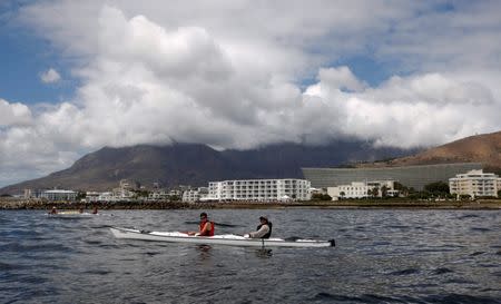
<path fill-rule="evenodd" d="M 302 168 L 312 187 L 327 188 L 354 180 L 397 180 L 406 187 L 422 190 L 425 185 L 444 182 L 456 174 L 481 169 L 480 163 L 438 164 L 384 168 Z"/>

